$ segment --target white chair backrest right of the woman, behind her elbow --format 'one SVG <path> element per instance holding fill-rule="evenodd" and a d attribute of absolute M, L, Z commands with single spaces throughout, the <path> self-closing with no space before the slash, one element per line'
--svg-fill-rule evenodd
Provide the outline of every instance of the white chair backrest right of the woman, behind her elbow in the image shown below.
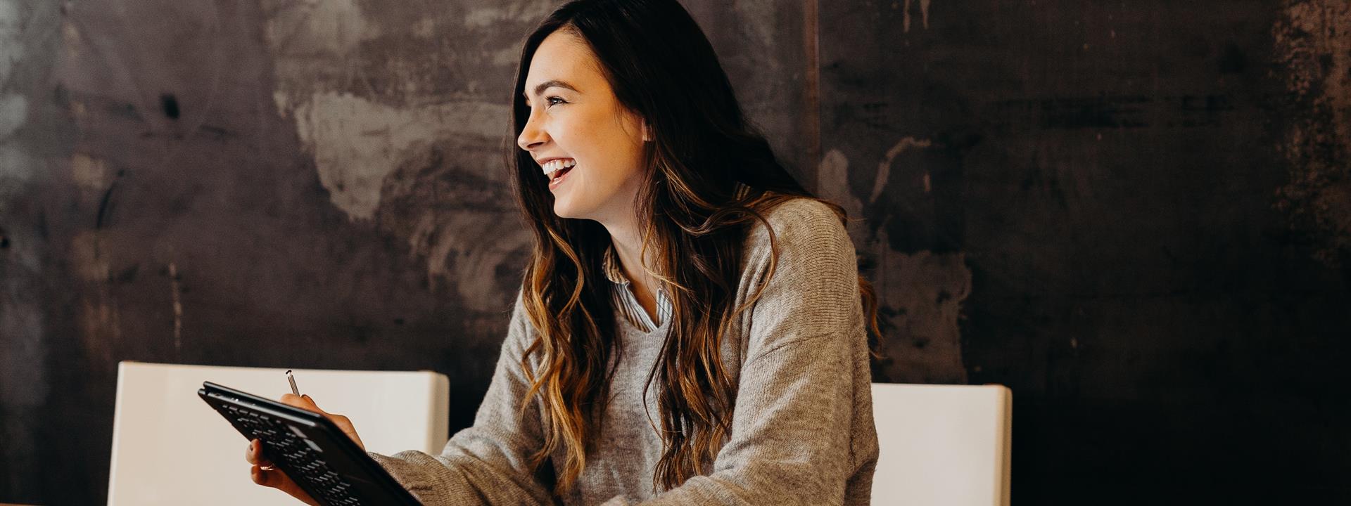
<path fill-rule="evenodd" d="M 1013 393 L 873 383 L 873 505 L 1008 506 Z"/>

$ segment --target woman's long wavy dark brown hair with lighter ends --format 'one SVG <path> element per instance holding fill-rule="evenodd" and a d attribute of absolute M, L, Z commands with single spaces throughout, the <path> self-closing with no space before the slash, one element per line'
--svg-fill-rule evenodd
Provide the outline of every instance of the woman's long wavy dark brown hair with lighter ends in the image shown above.
<path fill-rule="evenodd" d="M 531 58 L 558 30 L 589 45 L 619 103 L 651 127 L 634 208 L 643 236 L 639 258 L 653 259 L 648 274 L 671 302 L 669 331 L 647 378 L 647 387 L 657 389 L 663 441 L 653 486 L 669 490 L 708 472 L 704 461 L 731 430 L 736 385 L 720 349 L 728 325 L 759 297 L 757 291 L 732 306 L 747 232 L 755 223 L 769 228 L 763 216 L 774 205 L 816 197 L 746 121 L 713 47 L 674 0 L 578 0 L 544 19 L 520 55 L 512 93 L 516 136 L 530 117 L 523 92 Z M 611 239 L 596 221 L 555 216 L 547 178 L 531 155 L 513 144 L 508 150 L 516 197 L 535 236 L 523 302 L 538 336 L 520 358 L 531 381 L 526 403 L 538 395 L 546 420 L 544 445 L 532 464 L 538 468 L 562 449 L 554 491 L 563 494 L 586 466 L 589 436 L 598 429 L 617 364 L 612 358 L 623 345 L 613 283 L 601 269 Z M 773 229 L 770 243 L 777 248 Z M 875 335 L 875 297 L 862 277 L 859 291 Z"/>

